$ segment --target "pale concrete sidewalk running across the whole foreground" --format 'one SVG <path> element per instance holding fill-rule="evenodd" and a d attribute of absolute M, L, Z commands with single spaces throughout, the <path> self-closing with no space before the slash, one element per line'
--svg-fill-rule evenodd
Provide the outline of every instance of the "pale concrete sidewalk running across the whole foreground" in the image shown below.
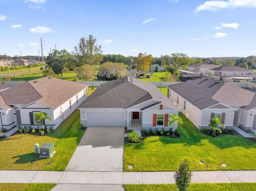
<path fill-rule="evenodd" d="M 174 172 L 0 171 L 0 183 L 174 184 Z M 256 171 L 193 171 L 192 183 L 256 182 Z"/>

